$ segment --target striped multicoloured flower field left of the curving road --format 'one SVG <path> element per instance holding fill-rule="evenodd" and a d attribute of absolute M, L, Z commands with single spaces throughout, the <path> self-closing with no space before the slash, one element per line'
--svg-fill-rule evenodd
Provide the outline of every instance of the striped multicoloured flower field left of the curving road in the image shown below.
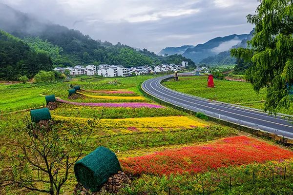
<path fill-rule="evenodd" d="M 99 146 L 113 151 L 125 173 L 134 176 L 121 194 L 194 195 L 202 194 L 203 188 L 204 194 L 215 195 L 293 193 L 291 149 L 153 102 L 139 90 L 147 78 L 0 85 L 0 174 L 11 168 L 9 159 L 21 154 L 17 140 L 25 137 L 17 129 L 26 125 L 26 118 L 30 120 L 25 109 L 45 106 L 44 95 L 55 94 L 57 107 L 50 113 L 60 136 L 70 137 L 81 130 L 85 138 L 87 121 L 101 118 L 82 156 Z M 68 98 L 69 84 L 84 91 Z M 78 156 L 74 148 L 70 153 Z M 71 195 L 76 183 L 72 169 L 62 194 Z M 0 194 L 39 193 L 7 186 Z"/>

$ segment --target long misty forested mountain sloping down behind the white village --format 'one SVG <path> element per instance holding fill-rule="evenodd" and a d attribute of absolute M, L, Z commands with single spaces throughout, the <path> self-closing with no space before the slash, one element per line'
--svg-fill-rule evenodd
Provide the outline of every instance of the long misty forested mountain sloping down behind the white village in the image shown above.
<path fill-rule="evenodd" d="M 52 58 L 54 66 L 108 63 L 131 67 L 160 64 L 169 59 L 174 59 L 174 61 L 183 59 L 190 65 L 194 64 L 191 59 L 181 55 L 166 58 L 154 53 L 137 51 L 120 42 L 113 45 L 108 41 L 94 40 L 80 31 L 37 20 L 1 3 L 0 19 L 1 30 L 24 39 L 35 51 L 48 54 Z"/>

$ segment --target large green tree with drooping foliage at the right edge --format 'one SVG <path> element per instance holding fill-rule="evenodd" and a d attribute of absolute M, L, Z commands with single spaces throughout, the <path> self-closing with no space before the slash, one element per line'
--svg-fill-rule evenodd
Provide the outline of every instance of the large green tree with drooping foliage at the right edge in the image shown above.
<path fill-rule="evenodd" d="M 248 22 L 255 32 L 247 48 L 231 50 L 231 56 L 251 62 L 246 77 L 255 91 L 267 89 L 265 111 L 288 109 L 293 89 L 293 0 L 258 0 Z"/>

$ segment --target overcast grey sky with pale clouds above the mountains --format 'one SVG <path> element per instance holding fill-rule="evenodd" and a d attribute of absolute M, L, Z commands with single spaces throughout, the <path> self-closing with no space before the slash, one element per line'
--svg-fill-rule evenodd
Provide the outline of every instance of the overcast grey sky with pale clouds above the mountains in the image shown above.
<path fill-rule="evenodd" d="M 12 8 L 107 40 L 158 53 L 249 33 L 257 0 L 0 0 Z"/>

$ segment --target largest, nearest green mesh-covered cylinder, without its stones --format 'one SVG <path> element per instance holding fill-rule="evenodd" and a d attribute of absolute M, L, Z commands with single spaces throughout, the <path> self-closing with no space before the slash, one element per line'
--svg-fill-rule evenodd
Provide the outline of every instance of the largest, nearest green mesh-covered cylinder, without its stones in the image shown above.
<path fill-rule="evenodd" d="M 74 165 L 77 181 L 92 192 L 99 191 L 108 178 L 121 171 L 117 156 L 99 147 Z"/>

